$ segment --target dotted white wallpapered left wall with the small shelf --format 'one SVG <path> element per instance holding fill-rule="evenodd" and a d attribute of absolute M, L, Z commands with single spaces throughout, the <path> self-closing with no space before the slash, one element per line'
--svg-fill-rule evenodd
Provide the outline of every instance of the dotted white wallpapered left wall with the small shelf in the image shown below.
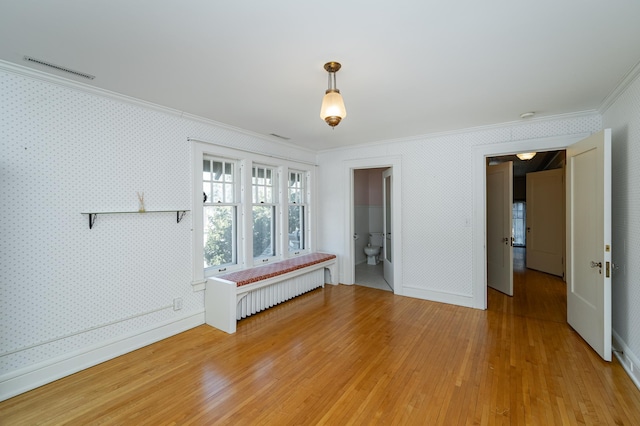
<path fill-rule="evenodd" d="M 99 215 L 90 230 L 81 212 L 137 211 L 137 191 L 147 211 L 190 209 L 188 137 L 315 161 L 177 111 L 4 68 L 0 136 L 0 399 L 81 368 L 64 360 L 84 357 L 86 367 L 114 356 L 88 359 L 98 348 L 126 352 L 144 333 L 158 340 L 163 327 L 204 321 L 190 213 L 180 223 L 175 212 Z"/>

